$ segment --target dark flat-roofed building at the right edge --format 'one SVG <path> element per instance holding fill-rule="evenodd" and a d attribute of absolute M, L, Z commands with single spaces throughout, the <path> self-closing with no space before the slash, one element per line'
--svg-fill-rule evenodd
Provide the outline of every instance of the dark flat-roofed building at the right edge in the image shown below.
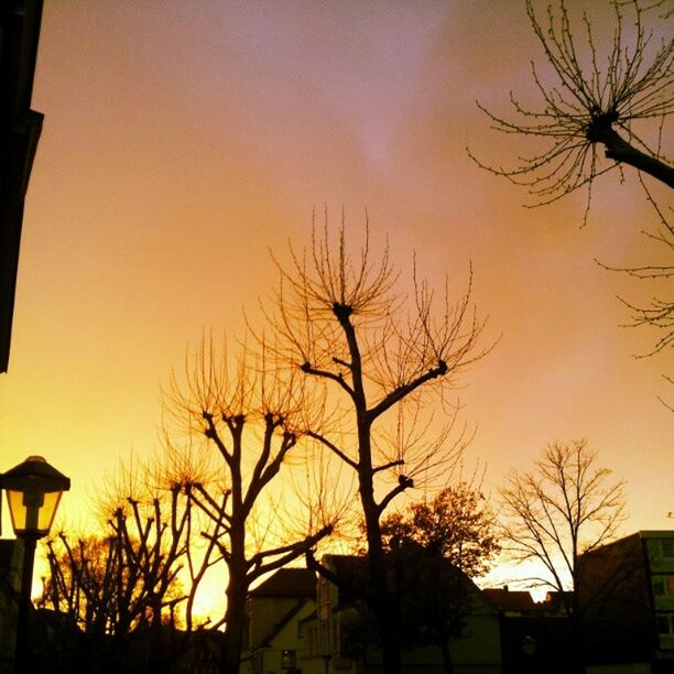
<path fill-rule="evenodd" d="M 640 531 L 580 562 L 588 674 L 674 672 L 674 531 Z"/>

